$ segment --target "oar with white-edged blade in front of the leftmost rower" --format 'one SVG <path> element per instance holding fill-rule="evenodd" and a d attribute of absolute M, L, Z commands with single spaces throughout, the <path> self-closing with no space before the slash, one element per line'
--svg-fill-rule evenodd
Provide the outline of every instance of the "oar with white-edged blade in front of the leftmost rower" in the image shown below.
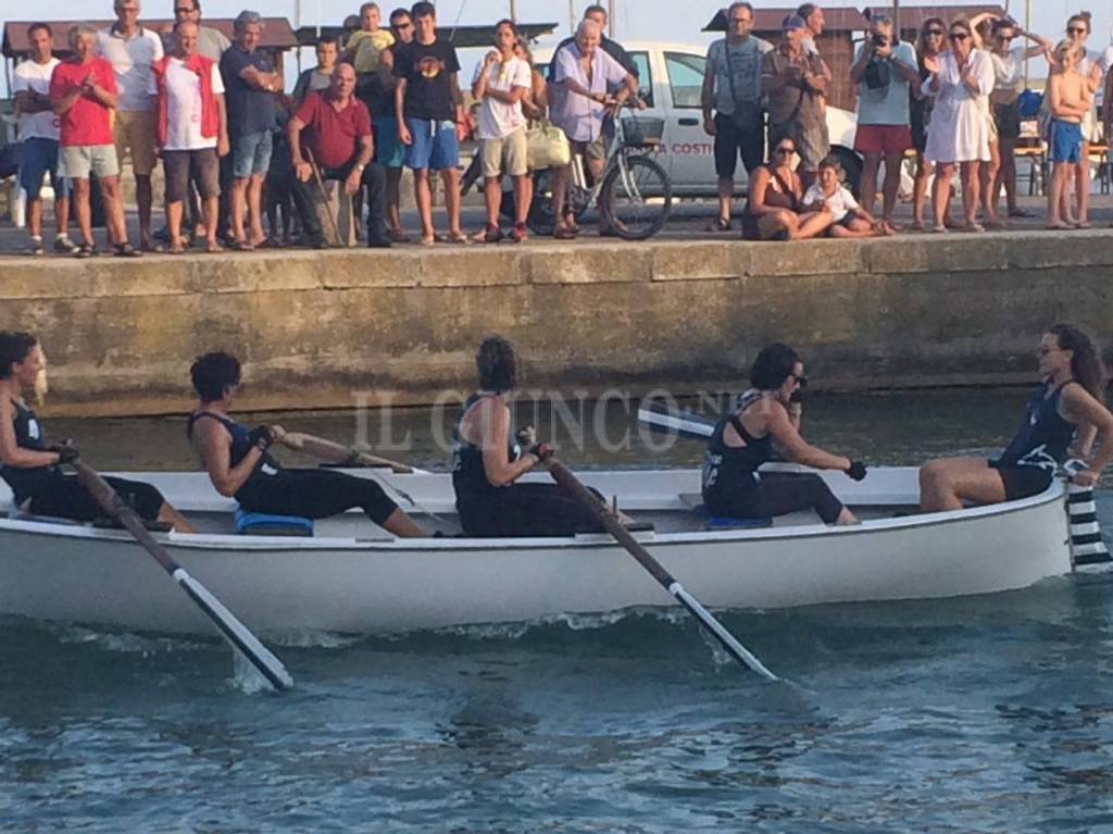
<path fill-rule="evenodd" d="M 189 598 L 197 604 L 205 616 L 216 624 L 233 649 L 258 669 L 259 674 L 276 690 L 283 691 L 294 686 L 294 678 L 283 666 L 282 660 L 259 642 L 259 638 L 236 619 L 236 616 L 225 608 L 224 604 L 214 597 L 208 588 L 174 561 L 166 549 L 155 541 L 155 537 L 147 531 L 136 511 L 117 494 L 116 490 L 108 485 L 104 478 L 80 461 L 72 461 L 70 465 L 77 470 L 81 485 L 88 490 L 101 509 L 112 518 L 118 519 L 127 528 L 127 531 L 136 538 L 136 541 L 142 546 L 144 550 L 155 557 L 155 561 L 161 565 L 166 572 L 174 578 L 174 581 L 181 586 L 181 589 L 189 595 Z"/>

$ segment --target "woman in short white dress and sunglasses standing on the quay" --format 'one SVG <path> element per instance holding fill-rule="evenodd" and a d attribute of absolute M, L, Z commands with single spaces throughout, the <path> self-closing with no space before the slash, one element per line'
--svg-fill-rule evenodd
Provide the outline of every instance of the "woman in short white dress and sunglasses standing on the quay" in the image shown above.
<path fill-rule="evenodd" d="M 947 230 L 944 216 L 956 165 L 963 184 L 964 228 L 985 230 L 977 223 L 978 169 L 991 158 L 988 114 L 994 73 L 988 53 L 974 49 L 971 31 L 965 20 L 954 21 L 947 35 L 951 51 L 924 61 L 930 75 L 924 80 L 923 91 L 935 98 L 924 149 L 924 158 L 933 163 L 936 170 L 935 232 Z"/>

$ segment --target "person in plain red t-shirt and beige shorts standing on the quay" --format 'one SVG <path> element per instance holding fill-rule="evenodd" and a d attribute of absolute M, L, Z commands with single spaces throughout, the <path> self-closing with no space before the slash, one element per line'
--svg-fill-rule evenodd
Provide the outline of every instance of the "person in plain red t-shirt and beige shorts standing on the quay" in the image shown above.
<path fill-rule="evenodd" d="M 73 184 L 73 207 L 82 245 L 78 257 L 97 254 L 89 209 L 89 174 L 100 180 L 109 242 L 116 254 L 135 257 L 128 244 L 120 198 L 120 166 L 112 137 L 111 111 L 116 108 L 116 73 L 112 65 L 93 55 L 97 30 L 76 26 L 69 31 L 73 57 L 55 68 L 50 77 L 50 100 L 59 118 L 61 167 Z"/>

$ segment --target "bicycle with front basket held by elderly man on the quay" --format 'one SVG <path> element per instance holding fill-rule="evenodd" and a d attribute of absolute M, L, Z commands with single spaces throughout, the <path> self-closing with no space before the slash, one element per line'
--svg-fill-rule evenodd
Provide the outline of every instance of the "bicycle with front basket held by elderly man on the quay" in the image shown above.
<path fill-rule="evenodd" d="M 624 241 L 644 241 L 664 226 L 672 210 L 672 181 L 648 154 L 661 145 L 664 119 L 630 116 L 621 111 L 613 120 L 614 136 L 607 151 L 603 173 L 588 186 L 583 157 L 572 157 L 572 183 L 568 188 L 565 210 L 579 219 L 592 205 L 602 215 L 603 227 Z M 551 235 L 553 216 L 553 173 L 534 171 L 530 228 L 538 235 Z"/>

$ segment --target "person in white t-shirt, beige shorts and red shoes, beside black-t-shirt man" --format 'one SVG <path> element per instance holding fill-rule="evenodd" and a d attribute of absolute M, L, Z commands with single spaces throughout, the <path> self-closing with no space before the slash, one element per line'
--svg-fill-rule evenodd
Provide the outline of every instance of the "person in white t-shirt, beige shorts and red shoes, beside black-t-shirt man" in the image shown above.
<path fill-rule="evenodd" d="M 522 97 L 532 87 L 530 65 L 514 55 L 518 27 L 512 20 L 500 20 L 494 28 L 495 48 L 475 67 L 472 96 L 480 102 L 479 139 L 483 165 L 487 224 L 483 233 L 486 243 L 499 243 L 499 207 L 502 204 L 502 176 L 514 180 L 514 228 L 510 238 L 525 238 L 525 218 L 530 210 L 526 179 L 525 117 Z"/>

